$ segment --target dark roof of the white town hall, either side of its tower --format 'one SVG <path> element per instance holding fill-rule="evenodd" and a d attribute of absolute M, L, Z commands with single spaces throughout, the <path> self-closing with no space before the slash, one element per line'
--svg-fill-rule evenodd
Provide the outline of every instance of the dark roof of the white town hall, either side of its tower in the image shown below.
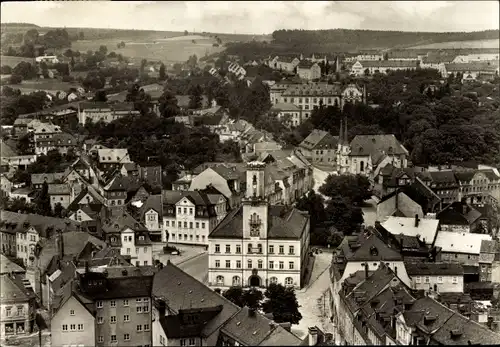
<path fill-rule="evenodd" d="M 309 216 L 296 208 L 286 210 L 283 206 L 269 206 L 268 208 L 269 239 L 298 239 L 306 228 Z M 236 238 L 243 237 L 243 207 L 234 209 L 210 233 L 209 238 Z"/>

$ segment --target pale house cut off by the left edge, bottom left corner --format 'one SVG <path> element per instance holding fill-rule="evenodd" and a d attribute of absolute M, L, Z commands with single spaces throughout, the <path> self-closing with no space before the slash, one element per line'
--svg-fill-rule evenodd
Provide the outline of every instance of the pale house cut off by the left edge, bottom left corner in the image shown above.
<path fill-rule="evenodd" d="M 31 334 L 35 326 L 36 296 L 29 282 L 19 274 L 2 274 L 0 288 L 0 338 Z"/>

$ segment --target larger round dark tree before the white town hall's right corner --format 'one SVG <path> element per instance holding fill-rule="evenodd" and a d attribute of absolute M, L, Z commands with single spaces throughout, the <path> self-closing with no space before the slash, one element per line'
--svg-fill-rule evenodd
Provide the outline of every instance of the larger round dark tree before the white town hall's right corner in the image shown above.
<path fill-rule="evenodd" d="M 262 303 L 262 309 L 265 313 L 272 313 L 276 323 L 299 324 L 302 315 L 299 312 L 299 303 L 293 287 L 271 283 L 264 296 L 266 299 Z"/>

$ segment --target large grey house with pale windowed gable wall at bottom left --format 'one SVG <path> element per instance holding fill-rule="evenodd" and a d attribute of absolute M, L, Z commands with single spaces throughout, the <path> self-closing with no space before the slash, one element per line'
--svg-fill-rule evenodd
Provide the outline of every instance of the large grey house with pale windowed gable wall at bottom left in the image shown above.
<path fill-rule="evenodd" d="M 54 309 L 53 343 L 152 346 L 153 275 L 129 267 L 77 273 Z"/>

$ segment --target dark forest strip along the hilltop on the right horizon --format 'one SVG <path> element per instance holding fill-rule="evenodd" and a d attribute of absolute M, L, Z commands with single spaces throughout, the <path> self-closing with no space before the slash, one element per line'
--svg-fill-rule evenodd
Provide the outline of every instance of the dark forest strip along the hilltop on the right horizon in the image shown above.
<path fill-rule="evenodd" d="M 358 51 L 362 49 L 386 49 L 409 47 L 447 41 L 471 41 L 498 39 L 499 30 L 476 32 L 406 32 L 381 30 L 276 30 L 273 44 L 290 47 L 325 47 L 331 51 Z"/>

